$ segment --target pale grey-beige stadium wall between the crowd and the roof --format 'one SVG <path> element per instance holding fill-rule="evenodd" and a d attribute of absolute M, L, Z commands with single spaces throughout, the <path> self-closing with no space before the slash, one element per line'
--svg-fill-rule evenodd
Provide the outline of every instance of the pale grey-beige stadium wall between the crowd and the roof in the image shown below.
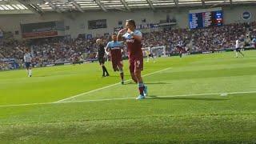
<path fill-rule="evenodd" d="M 0 27 L 2 30 L 15 32 L 14 37 L 17 39 L 22 38 L 21 23 L 32 22 L 49 22 L 49 21 L 64 21 L 65 26 L 69 26 L 70 29 L 65 31 L 66 35 L 70 35 L 71 38 L 76 38 L 78 34 L 92 34 L 93 37 L 102 35 L 105 33 L 112 33 L 114 27 L 118 27 L 118 21 L 125 22 L 126 19 L 133 18 L 137 24 L 146 23 L 158 23 L 160 20 L 165 20 L 166 15 L 170 15 L 170 18 L 176 18 L 177 26 L 181 28 L 188 27 L 188 13 L 189 10 L 196 10 L 202 8 L 188 8 L 180 7 L 161 9 L 153 12 L 152 10 L 136 10 L 132 12 L 122 11 L 110 11 L 110 12 L 85 12 L 85 13 L 56 13 L 48 12 L 42 15 L 39 14 L 5 14 L 0 15 Z M 255 6 L 222 6 L 224 11 L 224 23 L 232 22 L 252 22 L 256 21 L 256 9 Z M 243 12 L 250 12 L 250 20 L 242 19 Z M 106 19 L 107 28 L 88 30 L 88 21 Z M 146 22 L 142 22 L 142 19 L 146 19 Z"/>

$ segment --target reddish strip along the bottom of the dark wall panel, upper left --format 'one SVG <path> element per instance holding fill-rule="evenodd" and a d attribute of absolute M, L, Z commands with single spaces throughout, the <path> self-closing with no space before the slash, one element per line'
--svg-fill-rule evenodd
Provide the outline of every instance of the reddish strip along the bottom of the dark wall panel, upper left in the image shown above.
<path fill-rule="evenodd" d="M 34 32 L 34 33 L 24 33 L 22 38 L 45 38 L 58 36 L 58 31 L 45 31 L 45 32 Z"/>

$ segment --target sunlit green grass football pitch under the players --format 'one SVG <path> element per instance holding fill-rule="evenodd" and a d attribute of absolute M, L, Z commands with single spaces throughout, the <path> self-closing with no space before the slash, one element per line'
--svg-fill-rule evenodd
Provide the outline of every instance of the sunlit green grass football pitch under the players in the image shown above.
<path fill-rule="evenodd" d="M 255 143 L 256 50 L 145 62 L 149 96 L 110 62 L 0 72 L 0 143 Z"/>

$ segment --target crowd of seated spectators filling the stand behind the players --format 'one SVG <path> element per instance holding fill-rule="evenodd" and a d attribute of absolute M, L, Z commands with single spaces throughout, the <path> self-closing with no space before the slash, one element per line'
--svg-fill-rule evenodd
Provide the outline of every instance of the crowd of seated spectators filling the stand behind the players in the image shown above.
<path fill-rule="evenodd" d="M 256 38 L 256 22 L 233 23 L 225 26 L 208 27 L 197 30 L 175 29 L 154 31 L 143 34 L 143 47 L 166 46 L 167 53 L 174 54 L 178 42 L 190 52 L 218 51 L 233 49 L 238 38 Z M 103 38 L 103 37 L 102 37 Z M 74 57 L 83 60 L 95 58 L 96 38 L 40 38 L 26 42 L 1 42 L 0 60 L 15 58 L 22 65 L 22 58 L 26 48 L 30 48 L 34 66 L 46 66 L 58 62 L 72 62 Z M 106 43 L 110 37 L 104 37 Z M 0 62 L 0 70 L 8 69 L 10 64 Z"/>

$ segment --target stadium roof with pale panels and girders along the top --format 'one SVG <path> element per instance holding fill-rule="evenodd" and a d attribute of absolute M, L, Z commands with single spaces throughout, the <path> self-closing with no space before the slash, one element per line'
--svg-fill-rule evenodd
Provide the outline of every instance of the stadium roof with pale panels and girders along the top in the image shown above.
<path fill-rule="evenodd" d="M 44 13 L 46 11 L 85 10 L 133 10 L 179 6 L 218 6 L 242 3 L 256 3 L 256 0 L 0 0 L 0 13 L 5 11 L 26 11 Z"/>

